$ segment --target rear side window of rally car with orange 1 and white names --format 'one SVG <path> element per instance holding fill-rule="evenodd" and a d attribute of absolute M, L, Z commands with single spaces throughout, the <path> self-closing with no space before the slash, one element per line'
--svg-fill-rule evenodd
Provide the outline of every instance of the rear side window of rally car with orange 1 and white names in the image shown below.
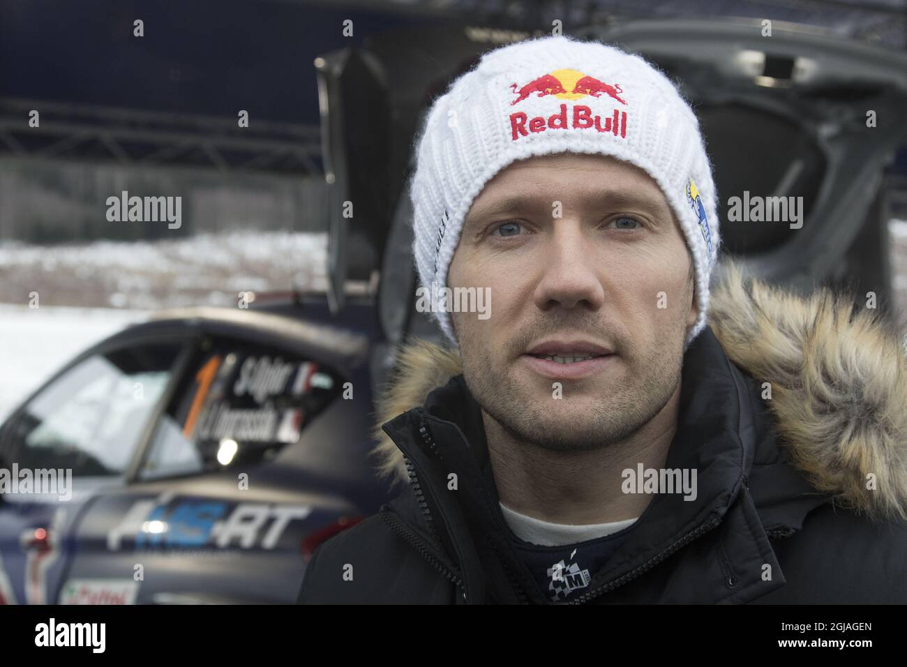
<path fill-rule="evenodd" d="M 342 381 L 316 360 L 223 340 L 203 354 L 161 419 L 139 478 L 249 466 L 295 443 Z"/>

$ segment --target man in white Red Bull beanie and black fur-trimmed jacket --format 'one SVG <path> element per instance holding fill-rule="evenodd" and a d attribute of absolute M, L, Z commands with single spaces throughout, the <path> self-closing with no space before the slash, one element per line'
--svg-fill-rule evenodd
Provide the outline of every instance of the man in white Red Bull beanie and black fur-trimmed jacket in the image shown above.
<path fill-rule="evenodd" d="M 403 491 L 317 550 L 300 602 L 907 602 L 901 344 L 733 266 L 710 292 L 715 185 L 668 79 L 506 46 L 417 154 L 414 256 L 453 348 L 401 351 L 378 452 Z"/>

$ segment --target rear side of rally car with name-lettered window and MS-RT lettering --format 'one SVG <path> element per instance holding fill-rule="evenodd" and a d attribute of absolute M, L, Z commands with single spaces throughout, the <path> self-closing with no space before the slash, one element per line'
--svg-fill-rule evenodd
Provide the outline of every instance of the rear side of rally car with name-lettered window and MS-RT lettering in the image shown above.
<path fill-rule="evenodd" d="M 97 495 L 80 521 L 60 602 L 105 586 L 136 603 L 293 602 L 306 540 L 356 512 L 339 485 L 319 494 L 278 456 L 342 385 L 298 351 L 205 336 L 131 484 Z"/>

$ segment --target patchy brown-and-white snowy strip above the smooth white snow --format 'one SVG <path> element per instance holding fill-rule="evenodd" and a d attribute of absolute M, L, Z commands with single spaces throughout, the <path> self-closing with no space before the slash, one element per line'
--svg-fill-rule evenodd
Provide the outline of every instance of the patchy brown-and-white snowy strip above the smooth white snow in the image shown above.
<path fill-rule="evenodd" d="M 239 292 L 327 288 L 327 234 L 201 234 L 180 240 L 0 244 L 0 303 L 157 309 L 234 306 Z"/>

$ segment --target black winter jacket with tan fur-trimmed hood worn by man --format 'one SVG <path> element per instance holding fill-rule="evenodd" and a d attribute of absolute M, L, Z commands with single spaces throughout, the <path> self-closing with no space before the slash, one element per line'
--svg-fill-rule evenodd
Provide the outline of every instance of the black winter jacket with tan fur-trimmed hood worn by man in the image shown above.
<path fill-rule="evenodd" d="M 561 603 L 907 603 L 901 341 L 824 290 L 728 275 L 665 464 L 697 469 L 696 500 L 654 495 Z M 317 549 L 299 602 L 550 603 L 512 547 L 459 359 L 419 343 L 399 368 L 379 454 L 408 484 Z"/>

